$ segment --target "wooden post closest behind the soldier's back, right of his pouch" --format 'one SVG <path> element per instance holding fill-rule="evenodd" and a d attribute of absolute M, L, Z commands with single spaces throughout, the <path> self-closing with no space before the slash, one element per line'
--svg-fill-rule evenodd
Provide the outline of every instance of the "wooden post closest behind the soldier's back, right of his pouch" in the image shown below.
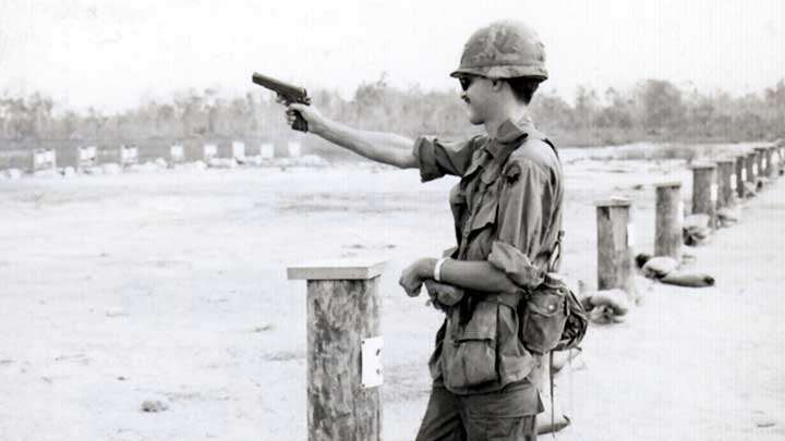
<path fill-rule="evenodd" d="M 637 301 L 632 274 L 635 233 L 629 199 L 597 200 L 597 290 L 621 289 Z"/>

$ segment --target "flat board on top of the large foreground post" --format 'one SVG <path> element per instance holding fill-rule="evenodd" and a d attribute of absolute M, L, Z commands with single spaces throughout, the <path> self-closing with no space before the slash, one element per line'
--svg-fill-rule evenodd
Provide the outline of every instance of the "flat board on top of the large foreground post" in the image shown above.
<path fill-rule="evenodd" d="M 384 260 L 314 260 L 287 268 L 289 280 L 369 280 L 382 274 Z"/>

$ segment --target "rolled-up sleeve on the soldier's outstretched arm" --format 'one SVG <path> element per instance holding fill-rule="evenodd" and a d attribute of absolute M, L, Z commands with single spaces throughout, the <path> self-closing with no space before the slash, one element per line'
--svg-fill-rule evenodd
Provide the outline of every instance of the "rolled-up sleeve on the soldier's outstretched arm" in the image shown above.
<path fill-rule="evenodd" d="M 420 167 L 422 182 L 445 174 L 462 176 L 469 168 L 474 150 L 482 145 L 481 138 L 481 135 L 462 142 L 446 142 L 434 136 L 416 138 L 413 154 Z"/>

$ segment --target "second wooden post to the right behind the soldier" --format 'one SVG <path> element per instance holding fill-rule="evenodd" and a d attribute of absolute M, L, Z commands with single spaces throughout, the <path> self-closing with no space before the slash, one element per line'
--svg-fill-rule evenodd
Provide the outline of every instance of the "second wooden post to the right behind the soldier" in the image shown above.
<path fill-rule="evenodd" d="M 681 260 L 681 222 L 684 201 L 681 183 L 667 182 L 656 185 L 656 215 L 654 225 L 654 255 Z"/>

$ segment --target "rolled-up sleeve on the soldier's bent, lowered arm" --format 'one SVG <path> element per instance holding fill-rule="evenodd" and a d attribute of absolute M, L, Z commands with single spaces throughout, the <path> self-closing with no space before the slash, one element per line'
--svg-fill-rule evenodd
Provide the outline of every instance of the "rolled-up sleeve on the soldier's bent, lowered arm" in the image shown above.
<path fill-rule="evenodd" d="M 497 240 L 492 243 L 488 262 L 518 286 L 532 289 L 542 283 L 545 270 L 536 265 L 543 235 L 554 201 L 548 173 L 528 161 L 510 160 L 499 179 Z"/>

